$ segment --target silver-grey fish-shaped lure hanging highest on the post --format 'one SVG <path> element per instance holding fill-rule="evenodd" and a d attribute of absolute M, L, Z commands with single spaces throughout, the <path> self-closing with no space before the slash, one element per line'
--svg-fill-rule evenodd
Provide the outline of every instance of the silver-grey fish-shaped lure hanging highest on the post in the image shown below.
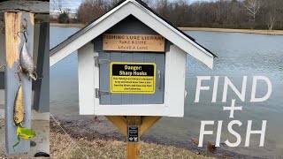
<path fill-rule="evenodd" d="M 26 35 L 25 35 L 26 36 Z M 27 42 L 24 42 L 19 53 L 19 72 L 25 74 L 28 79 L 37 79 L 37 74 L 35 72 L 36 68 L 34 66 L 34 59 L 30 56 L 27 49 Z"/>

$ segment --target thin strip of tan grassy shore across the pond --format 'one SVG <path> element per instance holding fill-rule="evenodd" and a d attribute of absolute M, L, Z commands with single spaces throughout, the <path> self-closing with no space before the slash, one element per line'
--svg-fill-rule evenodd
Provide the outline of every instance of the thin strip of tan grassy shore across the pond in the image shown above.
<path fill-rule="evenodd" d="M 85 27 L 84 24 L 59 24 L 50 23 L 50 27 Z M 210 27 L 179 27 L 182 31 L 203 31 L 203 32 L 224 32 L 242 34 L 271 34 L 283 35 L 283 30 L 251 30 L 251 29 L 229 29 L 229 28 L 210 28 Z"/>

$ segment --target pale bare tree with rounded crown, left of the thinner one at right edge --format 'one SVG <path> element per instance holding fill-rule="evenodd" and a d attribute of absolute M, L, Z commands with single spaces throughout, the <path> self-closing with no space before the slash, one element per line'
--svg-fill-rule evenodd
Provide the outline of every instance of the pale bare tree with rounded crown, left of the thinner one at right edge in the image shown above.
<path fill-rule="evenodd" d="M 251 29 L 254 29 L 256 22 L 256 14 L 261 7 L 261 2 L 259 0 L 247 0 L 244 7 L 248 11 L 249 19 L 251 22 Z"/>

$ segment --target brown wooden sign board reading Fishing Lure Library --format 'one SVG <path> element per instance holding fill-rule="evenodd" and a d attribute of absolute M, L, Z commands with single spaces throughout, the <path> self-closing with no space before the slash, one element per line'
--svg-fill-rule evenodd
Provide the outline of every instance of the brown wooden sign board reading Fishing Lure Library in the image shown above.
<path fill-rule="evenodd" d="M 103 50 L 164 52 L 165 39 L 157 34 L 103 34 Z"/>

